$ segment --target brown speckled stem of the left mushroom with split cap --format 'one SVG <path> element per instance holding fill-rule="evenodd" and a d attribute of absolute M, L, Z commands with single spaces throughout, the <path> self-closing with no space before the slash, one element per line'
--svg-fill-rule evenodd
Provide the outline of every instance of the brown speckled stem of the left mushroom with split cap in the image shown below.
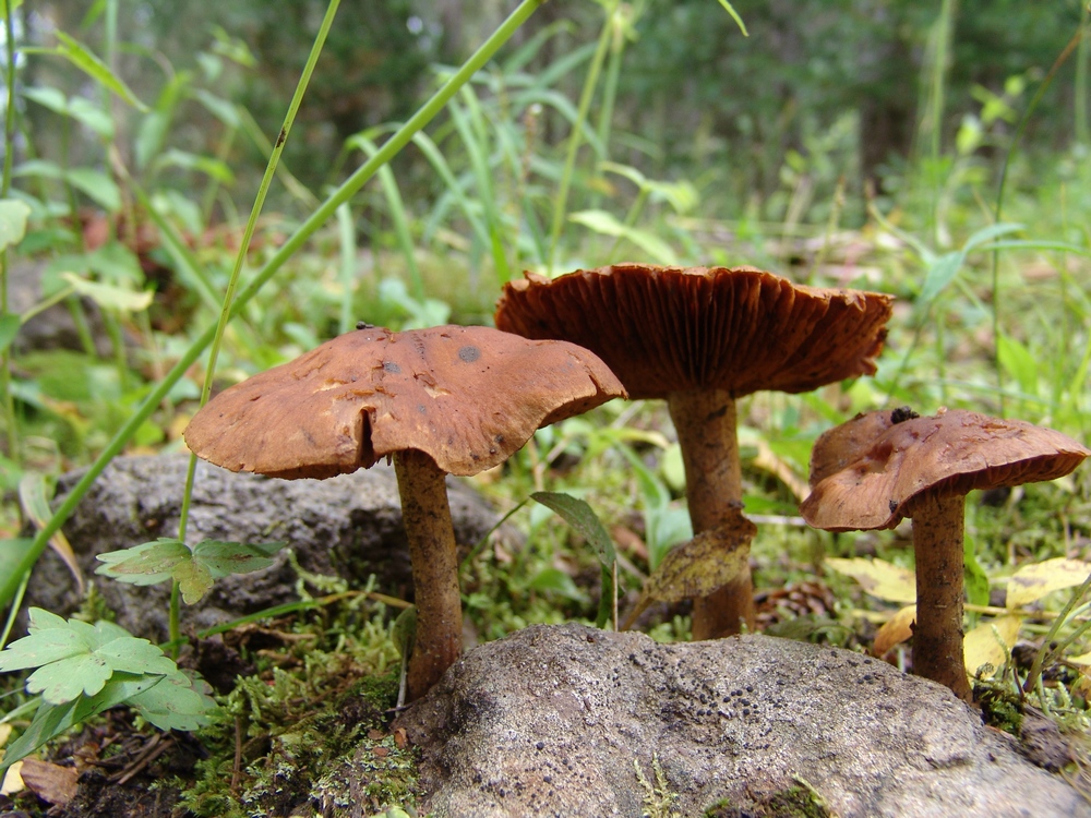
<path fill-rule="evenodd" d="M 409 659 L 409 701 L 428 693 L 463 648 L 455 531 L 446 474 L 423 452 L 394 454 L 401 519 L 409 540 L 417 633 Z"/>

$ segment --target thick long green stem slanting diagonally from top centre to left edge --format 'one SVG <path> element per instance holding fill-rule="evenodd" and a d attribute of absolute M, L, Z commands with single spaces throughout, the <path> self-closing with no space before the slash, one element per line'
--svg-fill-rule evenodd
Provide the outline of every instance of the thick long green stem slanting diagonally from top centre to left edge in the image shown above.
<path fill-rule="evenodd" d="M 335 190 L 321 205 L 317 209 L 310 215 L 310 217 L 297 228 L 280 249 L 269 258 L 265 266 L 254 276 L 253 280 L 239 291 L 235 301 L 228 308 L 228 316 L 235 317 L 242 311 L 242 308 L 249 303 L 254 296 L 268 284 L 269 279 L 285 265 L 285 263 L 291 258 L 291 256 L 307 242 L 308 239 L 329 219 L 331 216 L 337 210 L 337 207 L 349 201 L 368 181 L 375 175 L 375 172 L 383 165 L 388 163 L 401 148 L 409 144 L 410 140 L 417 131 L 421 130 L 427 125 L 447 104 L 447 100 L 454 96 L 458 89 L 469 82 L 470 77 L 473 76 L 477 71 L 484 65 L 492 56 L 503 46 L 512 35 L 518 31 L 528 17 L 542 4 L 544 0 L 523 0 L 521 3 L 512 12 L 512 14 L 493 32 L 492 36 L 487 39 L 470 58 L 463 63 L 461 68 L 458 69 L 455 74 L 447 80 L 429 98 L 429 100 L 406 122 L 397 133 L 395 133 L 383 146 L 379 149 L 371 159 L 359 167 L 356 172 L 352 173 L 348 179 L 346 179 L 337 190 Z M 140 429 L 141 424 L 151 417 L 152 412 L 159 402 L 166 398 L 170 389 L 176 383 L 178 383 L 181 377 L 185 374 L 185 371 L 192 366 L 196 360 L 201 357 L 204 350 L 212 344 L 213 338 L 216 336 L 217 325 L 212 325 L 205 328 L 203 333 L 190 345 L 190 348 L 182 353 L 181 358 L 178 360 L 170 372 L 168 372 L 163 381 L 151 392 L 147 397 L 144 398 L 144 402 L 133 412 L 133 416 L 125 422 L 125 424 L 113 435 L 112 440 L 107 444 L 103 453 L 95 459 L 95 462 L 91 465 L 84 476 L 80 481 L 72 486 L 71 492 L 65 497 L 64 502 L 57 508 L 53 516 L 49 518 L 45 526 L 39 529 L 38 533 L 34 538 L 34 542 L 31 549 L 20 561 L 20 564 L 15 567 L 16 572 L 29 570 L 34 564 L 37 562 L 41 552 L 45 551 L 46 545 L 49 543 L 49 538 L 64 525 L 64 521 L 72 515 L 75 507 L 80 504 L 84 494 L 91 488 L 92 483 L 98 479 L 98 476 L 103 473 L 103 469 L 112 460 L 122 448 L 124 448 L 125 443 L 135 434 L 136 430 Z"/>

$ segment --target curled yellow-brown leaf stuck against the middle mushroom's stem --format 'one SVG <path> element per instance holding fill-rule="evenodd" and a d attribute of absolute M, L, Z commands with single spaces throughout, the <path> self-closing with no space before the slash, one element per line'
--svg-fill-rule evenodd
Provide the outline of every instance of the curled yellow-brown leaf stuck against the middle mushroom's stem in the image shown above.
<path fill-rule="evenodd" d="M 729 522 L 675 545 L 644 584 L 640 598 L 621 629 L 627 629 L 652 602 L 681 602 L 707 597 L 745 569 L 757 527 L 734 510 Z"/>

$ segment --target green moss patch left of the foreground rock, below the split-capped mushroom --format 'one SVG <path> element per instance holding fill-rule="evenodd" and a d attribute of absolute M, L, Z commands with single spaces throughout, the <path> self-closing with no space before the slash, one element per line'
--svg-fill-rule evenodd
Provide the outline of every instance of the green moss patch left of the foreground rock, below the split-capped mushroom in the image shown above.
<path fill-rule="evenodd" d="M 321 806 L 332 818 L 346 798 L 369 814 L 415 804 L 416 760 L 386 730 L 399 662 L 384 614 L 362 603 L 327 610 L 292 623 L 283 652 L 262 651 L 272 666 L 241 677 L 202 732 L 209 756 L 184 806 L 209 818 Z"/>

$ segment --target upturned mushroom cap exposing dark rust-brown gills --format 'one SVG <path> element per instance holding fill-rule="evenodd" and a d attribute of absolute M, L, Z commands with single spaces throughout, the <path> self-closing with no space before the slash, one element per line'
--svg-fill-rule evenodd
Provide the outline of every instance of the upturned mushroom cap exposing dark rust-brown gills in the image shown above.
<path fill-rule="evenodd" d="M 875 372 L 891 297 L 752 267 L 615 264 L 504 286 L 496 326 L 595 351 L 633 398 L 808 392 Z"/>

